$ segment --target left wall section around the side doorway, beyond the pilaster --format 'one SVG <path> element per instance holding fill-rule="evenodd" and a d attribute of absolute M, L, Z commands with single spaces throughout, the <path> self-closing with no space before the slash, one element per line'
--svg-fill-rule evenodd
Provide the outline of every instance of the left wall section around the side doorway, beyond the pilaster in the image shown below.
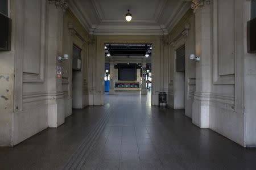
<path fill-rule="evenodd" d="M 72 27 L 72 29 L 70 28 Z M 75 88 L 77 94 L 80 94 L 79 97 L 72 97 L 72 46 L 75 44 L 78 46 L 81 51 L 82 58 L 82 69 L 78 73 L 76 79 Z M 75 15 L 70 10 L 67 10 L 64 13 L 64 22 L 63 22 L 63 53 L 69 54 L 69 60 L 63 62 L 62 66 L 64 68 L 63 79 L 63 91 L 64 91 L 64 101 L 65 107 L 65 116 L 70 116 L 72 114 L 72 98 L 73 103 L 81 103 L 76 105 L 75 108 L 84 108 L 88 105 L 88 45 L 89 45 L 89 36 L 84 27 Z M 79 87 L 79 88 L 78 88 Z"/>

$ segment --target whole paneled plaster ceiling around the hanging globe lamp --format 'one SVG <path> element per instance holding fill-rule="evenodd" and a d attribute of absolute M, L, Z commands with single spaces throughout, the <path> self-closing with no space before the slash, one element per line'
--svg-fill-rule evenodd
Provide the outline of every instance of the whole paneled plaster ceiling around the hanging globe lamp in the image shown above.
<path fill-rule="evenodd" d="M 164 35 L 190 4 L 183 0 L 73 0 L 69 8 L 90 34 Z M 128 9 L 131 22 L 125 20 Z"/>

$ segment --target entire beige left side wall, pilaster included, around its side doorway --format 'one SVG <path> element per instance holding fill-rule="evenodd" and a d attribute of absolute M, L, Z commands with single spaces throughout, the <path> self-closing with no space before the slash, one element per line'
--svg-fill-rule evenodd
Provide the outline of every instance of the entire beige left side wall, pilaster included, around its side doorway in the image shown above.
<path fill-rule="evenodd" d="M 88 104 L 88 34 L 79 21 L 46 0 L 11 0 L 10 8 L 11 51 L 0 52 L 0 146 L 13 146 L 43 129 L 56 128 L 72 113 L 72 42 L 83 50 L 83 107 Z M 71 36 L 69 22 L 86 42 Z M 64 54 L 69 60 L 57 61 Z M 63 78 L 56 78 L 56 66 L 63 68 Z"/>

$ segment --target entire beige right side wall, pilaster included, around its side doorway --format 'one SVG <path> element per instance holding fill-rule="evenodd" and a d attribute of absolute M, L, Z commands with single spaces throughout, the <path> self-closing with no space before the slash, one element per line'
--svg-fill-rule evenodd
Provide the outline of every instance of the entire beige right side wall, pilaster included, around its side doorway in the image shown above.
<path fill-rule="evenodd" d="M 213 0 L 187 12 L 169 34 L 168 105 L 175 108 L 175 49 L 185 44 L 185 114 L 242 146 L 256 146 L 255 54 L 246 53 L 249 9 L 249 1 Z M 188 32 L 181 33 L 187 24 Z M 189 54 L 201 61 L 190 61 Z"/>

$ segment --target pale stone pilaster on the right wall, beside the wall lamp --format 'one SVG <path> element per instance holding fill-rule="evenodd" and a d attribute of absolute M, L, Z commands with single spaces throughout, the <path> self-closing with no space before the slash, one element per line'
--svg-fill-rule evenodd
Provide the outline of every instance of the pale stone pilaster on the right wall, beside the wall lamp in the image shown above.
<path fill-rule="evenodd" d="M 201 60 L 196 62 L 196 91 L 193 100 L 193 124 L 200 128 L 209 128 L 209 98 L 211 88 L 210 66 L 210 5 L 195 10 L 196 19 L 196 56 Z"/>

